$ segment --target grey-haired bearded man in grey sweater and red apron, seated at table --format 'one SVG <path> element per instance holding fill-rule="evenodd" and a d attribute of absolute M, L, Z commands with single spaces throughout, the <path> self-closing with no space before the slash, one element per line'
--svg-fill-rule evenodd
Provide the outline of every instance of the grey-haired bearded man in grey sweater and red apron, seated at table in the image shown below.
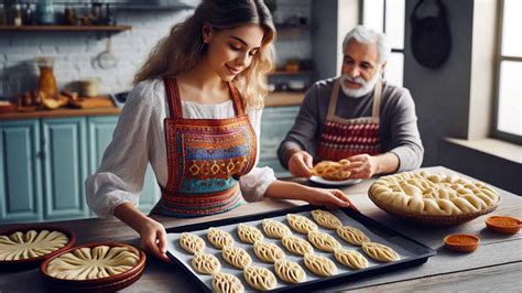
<path fill-rule="evenodd" d="M 410 91 L 382 79 L 390 45 L 363 26 L 342 42 L 341 75 L 306 93 L 278 155 L 294 176 L 309 177 L 313 161 L 348 159 L 352 178 L 417 169 L 424 148 Z M 340 89 L 340 90 L 339 90 Z"/>

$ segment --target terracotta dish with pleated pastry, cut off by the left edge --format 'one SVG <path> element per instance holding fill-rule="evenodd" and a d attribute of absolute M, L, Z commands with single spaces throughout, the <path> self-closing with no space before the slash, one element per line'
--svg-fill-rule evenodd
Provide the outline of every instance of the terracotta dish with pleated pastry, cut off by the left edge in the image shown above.
<path fill-rule="evenodd" d="M 76 236 L 54 226 L 14 227 L 0 231 L 0 265 L 35 264 L 70 247 Z"/>

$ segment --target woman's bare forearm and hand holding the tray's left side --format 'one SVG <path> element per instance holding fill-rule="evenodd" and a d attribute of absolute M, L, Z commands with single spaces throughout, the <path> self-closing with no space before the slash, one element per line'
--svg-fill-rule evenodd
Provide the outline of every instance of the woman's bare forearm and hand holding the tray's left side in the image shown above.
<path fill-rule="evenodd" d="M 115 214 L 124 224 L 134 229 L 141 238 L 141 247 L 163 261 L 170 261 L 166 252 L 166 231 L 163 225 L 143 215 L 131 203 L 115 208 Z"/>

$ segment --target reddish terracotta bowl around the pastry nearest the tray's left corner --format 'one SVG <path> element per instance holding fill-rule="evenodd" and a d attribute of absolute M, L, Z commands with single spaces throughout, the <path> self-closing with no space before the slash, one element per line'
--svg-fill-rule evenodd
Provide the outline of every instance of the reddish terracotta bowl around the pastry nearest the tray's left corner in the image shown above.
<path fill-rule="evenodd" d="M 138 279 L 141 278 L 141 274 L 143 273 L 143 269 L 145 268 L 146 257 L 145 257 L 145 253 L 141 249 L 138 249 L 138 248 L 134 248 L 140 253 L 140 260 L 138 264 L 131 268 L 130 270 L 116 274 L 116 275 L 99 278 L 99 279 L 94 279 L 94 280 L 65 280 L 65 279 L 58 279 L 58 278 L 52 276 L 47 273 L 48 263 L 52 260 L 58 258 L 59 256 L 65 254 L 67 252 L 72 252 L 73 250 L 76 250 L 79 248 L 94 248 L 98 246 L 134 248 L 126 243 L 96 242 L 96 243 L 88 243 L 88 245 L 84 245 L 79 247 L 69 248 L 65 251 L 62 251 L 61 253 L 55 254 L 53 258 L 46 259 L 40 267 L 40 272 L 43 279 L 43 283 L 47 287 L 47 290 L 51 292 L 68 292 L 68 291 L 115 292 L 115 291 L 118 291 L 131 285 L 135 281 L 138 281 Z"/>

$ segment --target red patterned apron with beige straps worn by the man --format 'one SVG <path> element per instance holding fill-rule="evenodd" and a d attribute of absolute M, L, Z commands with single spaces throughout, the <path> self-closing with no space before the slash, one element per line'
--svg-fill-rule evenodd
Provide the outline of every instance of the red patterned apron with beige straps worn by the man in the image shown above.
<path fill-rule="evenodd" d="M 371 117 L 344 119 L 335 115 L 339 97 L 339 78 L 335 82 L 326 120 L 323 123 L 317 158 L 319 161 L 339 161 L 356 154 L 381 153 L 379 137 L 379 110 L 382 83 L 376 85 Z"/>

